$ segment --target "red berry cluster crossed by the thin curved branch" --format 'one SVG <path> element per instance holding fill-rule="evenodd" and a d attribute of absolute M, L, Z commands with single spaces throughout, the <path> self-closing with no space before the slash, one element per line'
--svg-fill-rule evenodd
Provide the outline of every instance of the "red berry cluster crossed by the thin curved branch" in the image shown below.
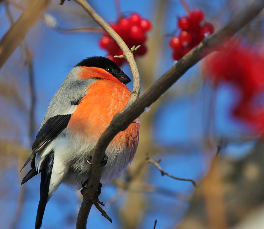
<path fill-rule="evenodd" d="M 147 40 L 146 32 L 152 26 L 148 19 L 142 18 L 138 13 L 132 13 L 129 17 L 119 18 L 116 23 L 112 23 L 110 26 L 119 34 L 129 48 L 134 45 L 141 45 L 136 51 L 135 57 L 142 56 L 147 52 L 147 47 L 144 44 Z M 124 59 L 114 58 L 115 55 L 122 55 L 123 52 L 105 31 L 103 37 L 99 40 L 99 46 L 108 52 L 107 58 L 113 60 L 117 65 L 121 66 L 125 63 Z"/>

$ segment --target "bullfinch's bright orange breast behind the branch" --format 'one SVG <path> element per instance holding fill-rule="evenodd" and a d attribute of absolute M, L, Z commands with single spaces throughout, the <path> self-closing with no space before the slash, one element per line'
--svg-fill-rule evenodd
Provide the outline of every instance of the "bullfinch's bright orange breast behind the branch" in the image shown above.
<path fill-rule="evenodd" d="M 91 84 L 72 114 L 67 133 L 82 136 L 83 141 L 96 142 L 115 114 L 125 107 L 130 95 L 129 89 L 121 82 L 105 79 Z M 138 138 L 139 124 L 131 123 L 115 136 L 110 145 L 136 150 Z"/>

